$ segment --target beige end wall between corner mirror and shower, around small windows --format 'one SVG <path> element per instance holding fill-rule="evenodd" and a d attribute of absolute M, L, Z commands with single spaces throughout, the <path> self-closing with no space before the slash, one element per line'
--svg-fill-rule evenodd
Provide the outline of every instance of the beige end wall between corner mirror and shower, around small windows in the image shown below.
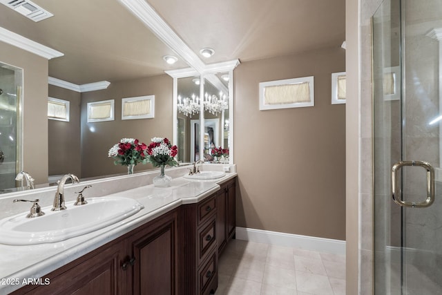
<path fill-rule="evenodd" d="M 236 68 L 239 227 L 345 240 L 345 105 L 331 104 L 340 71 L 339 47 Z M 310 75 L 314 107 L 259 111 L 259 82 Z"/>

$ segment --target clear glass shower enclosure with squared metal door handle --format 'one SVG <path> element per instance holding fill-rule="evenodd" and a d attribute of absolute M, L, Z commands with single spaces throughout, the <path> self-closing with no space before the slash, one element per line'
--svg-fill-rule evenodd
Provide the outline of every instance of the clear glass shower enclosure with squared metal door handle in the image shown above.
<path fill-rule="evenodd" d="M 375 294 L 442 294 L 441 16 L 385 0 L 372 18 Z"/>

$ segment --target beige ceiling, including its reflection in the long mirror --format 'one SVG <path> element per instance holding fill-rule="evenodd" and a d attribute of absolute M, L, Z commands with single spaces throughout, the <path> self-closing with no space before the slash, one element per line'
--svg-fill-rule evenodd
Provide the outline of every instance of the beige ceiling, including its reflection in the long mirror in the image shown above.
<path fill-rule="evenodd" d="M 74 84 L 160 75 L 175 55 L 117 0 L 33 0 L 54 17 L 34 22 L 0 5 L 0 26 L 64 53 L 49 61 L 49 75 Z M 340 46 L 345 0 L 148 0 L 205 64 L 251 61 Z"/>

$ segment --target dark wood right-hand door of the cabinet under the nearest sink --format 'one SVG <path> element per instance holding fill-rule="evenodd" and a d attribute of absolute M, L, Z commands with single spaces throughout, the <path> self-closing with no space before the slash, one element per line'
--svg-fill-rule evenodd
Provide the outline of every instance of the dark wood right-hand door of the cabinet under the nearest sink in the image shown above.
<path fill-rule="evenodd" d="M 133 294 L 175 294 L 177 213 L 168 213 L 133 236 Z"/>

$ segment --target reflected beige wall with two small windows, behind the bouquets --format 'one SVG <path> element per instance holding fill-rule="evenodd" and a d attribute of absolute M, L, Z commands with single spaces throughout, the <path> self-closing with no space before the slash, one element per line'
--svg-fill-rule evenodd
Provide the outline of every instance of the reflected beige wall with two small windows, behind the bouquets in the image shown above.
<path fill-rule="evenodd" d="M 155 118 L 121 120 L 124 97 L 155 95 Z M 87 103 L 115 99 L 115 120 L 87 122 Z M 115 166 L 108 158 L 108 150 L 123 137 L 133 137 L 149 144 L 151 138 L 173 139 L 173 79 L 160 75 L 112 83 L 106 90 L 81 95 L 81 177 L 124 173 L 125 166 Z M 137 165 L 135 171 L 152 168 L 151 164 Z"/>

